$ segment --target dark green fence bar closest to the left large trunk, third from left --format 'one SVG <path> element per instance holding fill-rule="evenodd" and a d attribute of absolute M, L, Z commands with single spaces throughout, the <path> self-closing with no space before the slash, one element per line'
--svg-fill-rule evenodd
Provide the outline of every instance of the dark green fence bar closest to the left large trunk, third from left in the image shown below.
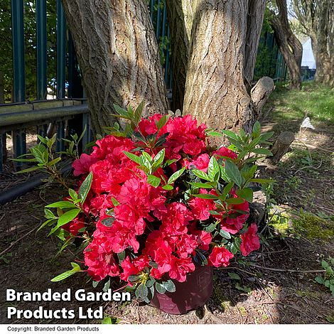
<path fill-rule="evenodd" d="M 57 98 L 65 97 L 66 23 L 63 6 L 57 0 Z"/>

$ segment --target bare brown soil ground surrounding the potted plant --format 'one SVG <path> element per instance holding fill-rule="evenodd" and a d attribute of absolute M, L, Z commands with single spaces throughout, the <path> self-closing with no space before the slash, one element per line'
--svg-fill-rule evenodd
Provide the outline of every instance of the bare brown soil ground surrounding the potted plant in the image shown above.
<path fill-rule="evenodd" d="M 0 206 L 0 323 L 100 323 L 100 320 L 77 317 L 8 319 L 9 306 L 23 310 L 34 310 L 39 306 L 53 310 L 67 308 L 74 309 L 76 313 L 80 306 L 85 310 L 103 306 L 104 315 L 113 323 L 333 323 L 334 296 L 314 279 L 322 274 L 318 272 L 323 269 L 321 260 L 334 257 L 334 240 L 318 235 L 308 236 L 291 227 L 298 225 L 298 212 L 301 209 L 315 217 L 320 217 L 321 213 L 321 222 L 329 222 L 333 218 L 334 126 L 317 124 L 314 131 L 299 131 L 298 122 L 274 124 L 270 119 L 264 119 L 262 124 L 265 131 L 274 129 L 275 136 L 281 129 L 287 128 L 297 134 L 298 141 L 294 141 L 291 152 L 277 166 L 266 171 L 266 176 L 277 180 L 273 195 L 276 201 L 274 208 L 291 213 L 288 217 L 289 228 L 282 234 L 270 224 L 264 225 L 259 251 L 254 252 L 247 262 L 234 262 L 227 268 L 216 269 L 214 291 L 204 307 L 185 315 L 173 316 L 139 303 L 135 298 L 126 303 L 6 301 L 6 289 L 41 292 L 48 288 L 53 291 L 66 291 L 68 288 L 72 291 L 102 290 L 101 284 L 93 289 L 92 281 L 88 281 L 85 273 L 58 283 L 50 281 L 70 269 L 73 259 L 80 261 L 82 256 L 68 249 L 55 257 L 58 251 L 57 237 L 47 237 L 48 229 L 36 232 L 45 220 L 44 205 L 63 195 L 54 185 L 44 185 Z M 307 159 L 310 156 L 312 163 Z M 306 163 L 301 163 L 303 158 Z M 0 188 L 17 186 L 18 177 L 13 176 L 10 168 L 5 171 L 1 174 Z"/>

